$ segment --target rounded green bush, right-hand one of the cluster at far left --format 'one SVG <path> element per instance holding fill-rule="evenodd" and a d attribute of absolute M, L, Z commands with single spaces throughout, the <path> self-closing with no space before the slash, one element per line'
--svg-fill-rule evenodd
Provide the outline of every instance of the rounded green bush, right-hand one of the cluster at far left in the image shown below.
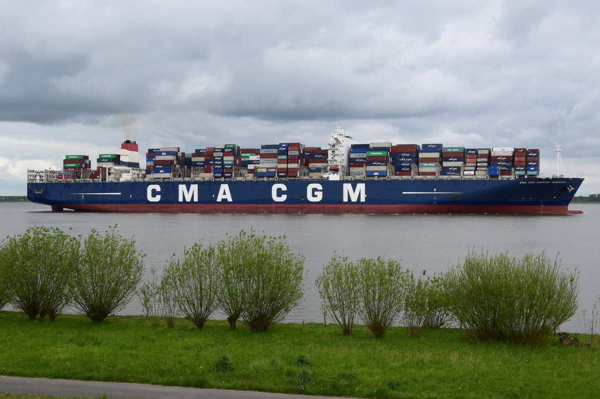
<path fill-rule="evenodd" d="M 136 293 L 144 271 L 135 241 L 116 232 L 116 225 L 101 235 L 92 229 L 85 238 L 73 279 L 73 305 L 94 322 L 127 305 Z"/>

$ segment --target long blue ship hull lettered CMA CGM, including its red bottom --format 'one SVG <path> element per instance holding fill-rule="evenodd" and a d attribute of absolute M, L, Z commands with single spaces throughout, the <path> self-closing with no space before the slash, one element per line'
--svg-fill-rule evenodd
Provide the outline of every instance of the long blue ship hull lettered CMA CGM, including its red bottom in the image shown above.
<path fill-rule="evenodd" d="M 161 213 L 581 213 L 583 179 L 29 182 L 53 210 Z"/>

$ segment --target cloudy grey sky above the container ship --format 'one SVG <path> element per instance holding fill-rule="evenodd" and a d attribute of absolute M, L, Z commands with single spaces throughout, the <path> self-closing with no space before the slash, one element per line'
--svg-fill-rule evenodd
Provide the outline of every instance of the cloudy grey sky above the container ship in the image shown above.
<path fill-rule="evenodd" d="M 600 193 L 598 0 L 0 0 L 0 195 L 121 142 L 541 151 Z M 143 157 L 143 155 L 142 155 Z M 140 157 L 140 158 L 142 158 Z"/>

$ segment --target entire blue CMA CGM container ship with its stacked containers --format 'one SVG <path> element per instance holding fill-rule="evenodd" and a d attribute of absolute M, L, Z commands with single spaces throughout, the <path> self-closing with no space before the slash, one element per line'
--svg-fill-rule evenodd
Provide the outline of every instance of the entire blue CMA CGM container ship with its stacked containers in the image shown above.
<path fill-rule="evenodd" d="M 54 211 L 581 213 L 568 207 L 583 179 L 542 177 L 538 149 L 359 143 L 334 126 L 325 149 L 160 147 L 145 161 L 130 140 L 95 169 L 89 156 L 66 155 L 62 170 L 28 171 L 28 198 Z"/>

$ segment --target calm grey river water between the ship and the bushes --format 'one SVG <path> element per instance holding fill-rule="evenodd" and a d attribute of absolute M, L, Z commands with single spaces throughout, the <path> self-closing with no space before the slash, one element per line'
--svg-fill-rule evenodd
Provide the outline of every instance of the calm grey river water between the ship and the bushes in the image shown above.
<path fill-rule="evenodd" d="M 301 306 L 287 322 L 322 322 L 323 315 L 314 279 L 334 251 L 351 259 L 384 256 L 401 261 L 415 275 L 444 270 L 464 259 L 469 249 L 490 253 L 509 251 L 520 257 L 546 250 L 559 253 L 564 267 L 580 271 L 580 310 L 562 326 L 569 332 L 584 332 L 581 312 L 589 315 L 600 293 L 598 236 L 600 205 L 572 204 L 580 215 L 285 215 L 285 214 L 124 214 L 52 212 L 31 202 L 0 203 L 0 237 L 19 234 L 29 226 L 58 227 L 87 235 L 90 229 L 104 231 L 118 223 L 124 237 L 134 236 L 137 247 L 147 254 L 146 268 L 160 270 L 173 253 L 197 240 L 216 243 L 227 233 L 241 229 L 268 235 L 286 235 L 293 252 L 306 256 L 305 295 Z M 121 312 L 139 315 L 134 298 Z"/>

